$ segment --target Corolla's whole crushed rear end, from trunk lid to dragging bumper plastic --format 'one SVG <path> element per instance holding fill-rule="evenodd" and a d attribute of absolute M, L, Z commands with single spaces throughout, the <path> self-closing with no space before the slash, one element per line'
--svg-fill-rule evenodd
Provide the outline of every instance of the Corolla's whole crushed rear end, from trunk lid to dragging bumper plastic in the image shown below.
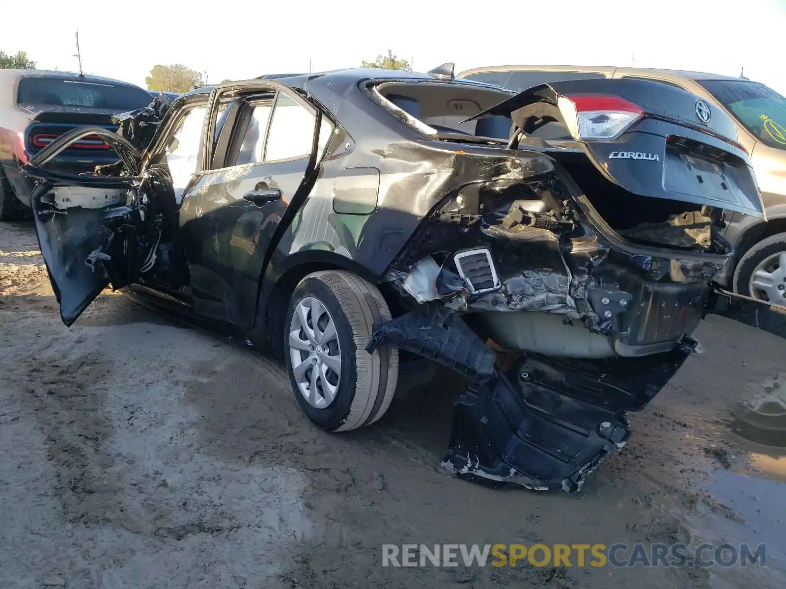
<path fill-rule="evenodd" d="M 726 211 L 763 214 L 732 121 L 705 106 L 654 82 L 582 80 L 473 117 L 512 132 L 456 151 L 454 188 L 387 273 L 410 310 L 366 348 L 472 379 L 443 466 L 573 492 L 696 349 L 733 256 Z"/>

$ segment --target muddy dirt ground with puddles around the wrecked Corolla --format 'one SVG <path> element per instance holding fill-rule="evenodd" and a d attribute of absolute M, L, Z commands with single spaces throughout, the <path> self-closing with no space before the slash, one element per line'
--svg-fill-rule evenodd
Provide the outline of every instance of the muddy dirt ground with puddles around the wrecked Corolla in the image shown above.
<path fill-rule="evenodd" d="M 574 496 L 439 468 L 454 387 L 316 430 L 284 371 L 118 294 L 72 328 L 30 224 L 0 223 L 0 587 L 783 587 L 786 457 L 729 433 L 786 340 L 711 318 Z M 766 543 L 766 566 L 383 568 L 383 543 Z M 575 564 L 575 562 L 573 563 Z"/>

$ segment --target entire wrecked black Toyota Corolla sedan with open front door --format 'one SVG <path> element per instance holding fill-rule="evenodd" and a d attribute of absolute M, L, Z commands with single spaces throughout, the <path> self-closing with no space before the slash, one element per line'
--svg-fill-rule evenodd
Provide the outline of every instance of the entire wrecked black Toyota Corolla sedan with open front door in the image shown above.
<path fill-rule="evenodd" d="M 426 357 L 472 381 L 443 466 L 571 492 L 695 349 L 725 211 L 762 215 L 704 108 L 635 79 L 333 71 L 158 98 L 25 173 L 65 324 L 111 284 L 229 325 L 331 431 L 380 419 Z M 87 135 L 119 162 L 47 169 Z"/>

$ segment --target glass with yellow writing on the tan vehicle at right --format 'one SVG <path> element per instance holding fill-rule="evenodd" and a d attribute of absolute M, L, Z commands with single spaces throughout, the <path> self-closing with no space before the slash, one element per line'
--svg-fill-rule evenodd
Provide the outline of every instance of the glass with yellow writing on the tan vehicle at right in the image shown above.
<path fill-rule="evenodd" d="M 758 82 L 700 80 L 700 84 L 764 145 L 786 149 L 786 98 Z"/>

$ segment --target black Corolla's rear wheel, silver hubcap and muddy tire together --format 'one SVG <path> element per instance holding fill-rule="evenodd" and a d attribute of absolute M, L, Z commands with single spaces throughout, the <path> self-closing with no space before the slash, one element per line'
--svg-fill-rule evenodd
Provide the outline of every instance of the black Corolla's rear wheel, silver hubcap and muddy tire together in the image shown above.
<path fill-rule="evenodd" d="M 318 331 L 315 332 L 310 331 L 314 327 L 314 300 L 327 312 L 325 315 L 317 305 Z M 288 305 L 284 356 L 292 393 L 300 410 L 314 424 L 334 432 L 354 430 L 374 423 L 387 411 L 399 379 L 399 350 L 380 346 L 369 354 L 364 348 L 373 324 L 388 320 L 391 320 L 390 309 L 380 291 L 352 273 L 324 270 L 309 274 L 299 282 Z M 307 328 L 303 327 L 304 321 Z M 309 343 L 311 349 L 299 349 L 313 342 L 323 329 L 331 331 L 330 321 L 335 327 L 335 338 L 325 339 L 324 347 Z M 291 340 L 291 336 L 296 340 Z M 292 342 L 296 347 L 293 348 Z M 340 357 L 337 372 L 325 368 L 328 358 L 335 359 L 336 354 Z M 310 371 L 305 368 L 303 372 L 303 366 L 307 365 L 300 364 L 303 360 L 313 363 Z M 335 365 L 335 360 L 332 364 Z M 321 379 L 312 397 L 311 377 L 317 370 L 314 365 L 323 370 L 318 371 Z M 296 366 L 300 368 L 297 375 Z M 325 387 L 332 390 L 334 386 L 332 399 L 328 401 L 331 393 L 325 393 Z"/>

